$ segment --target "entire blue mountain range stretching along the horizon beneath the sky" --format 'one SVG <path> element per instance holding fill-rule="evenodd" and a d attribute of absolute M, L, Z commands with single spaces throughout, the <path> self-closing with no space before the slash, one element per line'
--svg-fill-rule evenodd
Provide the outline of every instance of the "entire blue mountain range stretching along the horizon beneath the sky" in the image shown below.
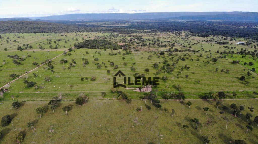
<path fill-rule="evenodd" d="M 258 13 L 250 12 L 164 12 L 164 13 L 107 13 L 67 14 L 44 17 L 0 18 L 0 21 L 58 21 L 58 20 L 251 20 L 257 21 Z"/>

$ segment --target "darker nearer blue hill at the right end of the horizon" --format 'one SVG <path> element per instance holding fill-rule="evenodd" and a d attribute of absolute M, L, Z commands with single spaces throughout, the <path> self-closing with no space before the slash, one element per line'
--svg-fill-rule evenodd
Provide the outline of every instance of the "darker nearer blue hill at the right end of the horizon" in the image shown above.
<path fill-rule="evenodd" d="M 241 13 L 241 14 L 219 14 L 219 15 L 199 15 L 199 16 L 180 16 L 156 20 L 233 20 L 233 21 L 253 21 L 258 22 L 258 13 Z"/>

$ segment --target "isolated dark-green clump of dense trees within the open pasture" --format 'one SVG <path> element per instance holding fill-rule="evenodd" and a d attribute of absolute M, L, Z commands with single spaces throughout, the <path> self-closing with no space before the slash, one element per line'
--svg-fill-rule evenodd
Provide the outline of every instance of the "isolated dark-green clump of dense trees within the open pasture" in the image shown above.
<path fill-rule="evenodd" d="M 79 49 L 79 48 L 97 48 L 97 49 L 119 49 L 120 46 L 116 43 L 110 42 L 108 40 L 103 40 L 103 39 L 89 39 L 89 40 L 84 40 L 81 43 L 74 44 L 74 47 Z"/>

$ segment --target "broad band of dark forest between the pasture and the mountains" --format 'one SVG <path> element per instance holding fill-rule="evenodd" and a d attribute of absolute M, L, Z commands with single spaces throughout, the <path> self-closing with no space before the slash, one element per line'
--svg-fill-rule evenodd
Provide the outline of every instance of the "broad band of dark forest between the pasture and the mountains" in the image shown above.
<path fill-rule="evenodd" d="M 111 23 L 103 25 L 102 23 Z M 141 30 L 157 32 L 189 31 L 192 35 L 222 35 L 258 40 L 258 23 L 236 21 L 0 21 L 0 33 L 48 33 L 48 32 L 117 32 L 121 34 L 142 33 Z M 148 31 L 144 31 L 148 33 Z"/>

